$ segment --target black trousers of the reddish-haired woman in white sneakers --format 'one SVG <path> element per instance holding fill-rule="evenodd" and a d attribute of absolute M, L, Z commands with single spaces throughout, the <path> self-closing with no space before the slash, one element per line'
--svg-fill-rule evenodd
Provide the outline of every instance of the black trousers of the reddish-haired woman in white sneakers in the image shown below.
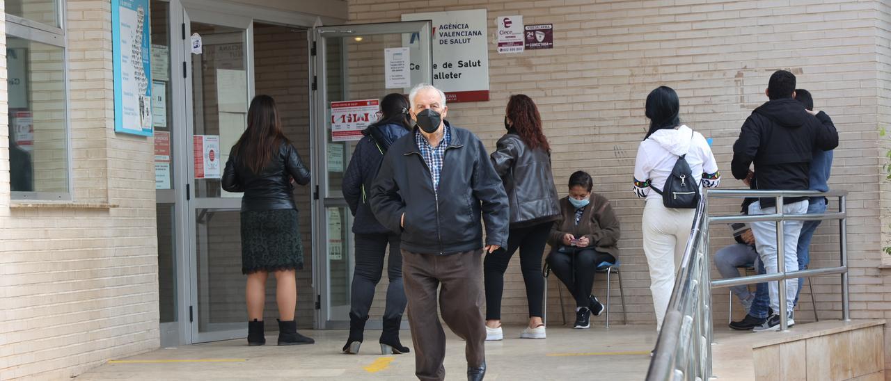
<path fill-rule="evenodd" d="M 511 229 L 507 239 L 507 252 L 486 254 L 483 274 L 486 281 L 486 320 L 501 320 L 501 300 L 504 292 L 504 272 L 511 262 L 511 256 L 519 248 L 519 269 L 526 283 L 526 299 L 529 304 L 529 317 L 542 316 L 542 254 L 553 223 Z"/>

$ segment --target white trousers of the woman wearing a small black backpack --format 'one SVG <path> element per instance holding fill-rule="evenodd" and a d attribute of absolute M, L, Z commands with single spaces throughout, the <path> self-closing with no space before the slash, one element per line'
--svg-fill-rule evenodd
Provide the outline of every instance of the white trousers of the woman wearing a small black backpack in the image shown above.
<path fill-rule="evenodd" d="M 647 199 L 643 208 L 643 253 L 650 267 L 650 291 L 656 311 L 656 329 L 662 328 L 674 276 L 690 239 L 696 209 L 670 209 L 662 199 Z"/>

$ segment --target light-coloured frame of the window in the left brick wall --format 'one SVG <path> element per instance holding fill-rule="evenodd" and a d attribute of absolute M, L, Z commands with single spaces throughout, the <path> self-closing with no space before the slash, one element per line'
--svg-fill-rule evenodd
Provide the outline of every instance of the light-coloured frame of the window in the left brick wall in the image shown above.
<path fill-rule="evenodd" d="M 67 13 L 65 0 L 59 0 L 56 4 L 57 12 L 59 12 L 59 25 L 61 28 L 55 28 L 51 25 L 40 23 L 34 20 L 25 19 L 4 12 L 5 27 L 7 37 L 16 37 L 24 40 L 33 41 L 39 44 L 52 45 L 61 47 L 62 49 L 62 87 L 64 92 L 65 117 L 65 159 L 66 163 L 66 183 L 67 189 L 63 192 L 51 191 L 11 191 L 10 198 L 12 201 L 70 201 L 72 200 L 74 169 L 72 166 L 71 152 L 71 98 L 69 96 L 69 55 L 68 55 L 68 33 L 66 31 Z M 8 48 L 8 45 L 7 45 Z M 8 96 L 8 94 L 7 94 Z M 7 122 L 7 129 L 9 128 Z M 36 181 L 35 181 L 36 182 Z"/>

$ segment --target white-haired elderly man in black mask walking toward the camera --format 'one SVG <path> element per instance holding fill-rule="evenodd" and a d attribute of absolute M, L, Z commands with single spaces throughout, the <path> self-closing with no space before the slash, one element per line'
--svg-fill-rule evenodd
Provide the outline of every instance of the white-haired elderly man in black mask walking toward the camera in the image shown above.
<path fill-rule="evenodd" d="M 486 374 L 481 256 L 507 244 L 507 195 L 483 143 L 446 122 L 445 93 L 418 85 L 409 101 L 417 126 L 387 151 L 372 186 L 372 211 L 384 226 L 402 232 L 415 375 L 446 377 L 438 291 L 443 320 L 466 342 L 467 378 L 481 380 Z"/>

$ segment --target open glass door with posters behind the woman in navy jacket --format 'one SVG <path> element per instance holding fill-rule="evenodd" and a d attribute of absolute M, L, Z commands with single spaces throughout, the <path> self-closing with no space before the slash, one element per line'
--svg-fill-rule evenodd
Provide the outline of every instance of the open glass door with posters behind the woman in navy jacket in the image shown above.
<path fill-rule="evenodd" d="M 378 118 L 377 102 L 388 93 L 407 94 L 413 85 L 431 83 L 430 28 L 430 21 L 407 21 L 313 30 L 316 328 L 349 324 L 354 249 L 352 215 L 341 191 L 343 172 L 361 129 Z M 369 321 L 369 327 L 379 324 Z"/>

